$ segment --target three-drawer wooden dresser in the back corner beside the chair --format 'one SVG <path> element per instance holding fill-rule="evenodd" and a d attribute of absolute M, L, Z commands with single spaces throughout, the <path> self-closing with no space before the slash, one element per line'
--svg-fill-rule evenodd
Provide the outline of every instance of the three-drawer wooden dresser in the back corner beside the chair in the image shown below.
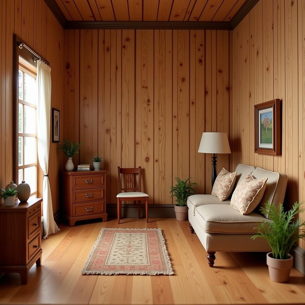
<path fill-rule="evenodd" d="M 63 171 L 62 204 L 70 227 L 78 220 L 107 221 L 106 173 L 107 170 Z"/>

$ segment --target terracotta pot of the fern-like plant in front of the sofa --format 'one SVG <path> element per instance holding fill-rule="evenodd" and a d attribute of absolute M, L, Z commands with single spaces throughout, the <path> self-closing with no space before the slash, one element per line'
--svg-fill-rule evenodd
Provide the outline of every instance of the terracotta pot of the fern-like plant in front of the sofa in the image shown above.
<path fill-rule="evenodd" d="M 293 265 L 293 256 L 288 254 L 286 260 L 279 260 L 272 257 L 272 252 L 267 253 L 267 265 L 269 276 L 272 281 L 285 283 L 289 280 L 290 270 Z"/>

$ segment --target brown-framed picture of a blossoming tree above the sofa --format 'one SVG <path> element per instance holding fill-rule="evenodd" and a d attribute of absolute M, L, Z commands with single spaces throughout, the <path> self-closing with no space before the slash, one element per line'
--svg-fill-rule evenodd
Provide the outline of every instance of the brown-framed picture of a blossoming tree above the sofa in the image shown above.
<path fill-rule="evenodd" d="M 281 155 L 280 100 L 254 105 L 254 152 Z"/>

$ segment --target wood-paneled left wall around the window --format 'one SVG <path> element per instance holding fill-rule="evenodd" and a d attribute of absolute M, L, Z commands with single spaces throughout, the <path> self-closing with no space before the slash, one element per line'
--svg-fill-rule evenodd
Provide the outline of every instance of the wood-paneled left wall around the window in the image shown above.
<path fill-rule="evenodd" d="M 4 188 L 13 178 L 13 34 L 50 62 L 51 107 L 63 110 L 64 31 L 41 0 L 2 0 L 0 14 L 0 186 Z M 60 128 L 63 135 L 63 124 Z M 58 144 L 51 142 L 48 174 L 54 212 L 59 210 L 59 170 L 62 168 L 63 156 Z"/>

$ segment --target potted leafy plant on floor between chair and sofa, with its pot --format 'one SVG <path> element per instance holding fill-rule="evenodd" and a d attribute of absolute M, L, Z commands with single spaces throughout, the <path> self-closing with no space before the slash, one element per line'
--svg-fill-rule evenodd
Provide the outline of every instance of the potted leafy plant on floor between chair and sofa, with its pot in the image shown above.
<path fill-rule="evenodd" d="M 176 201 L 178 202 L 175 204 L 175 214 L 177 220 L 188 219 L 188 207 L 186 205 L 186 200 L 188 199 L 188 196 L 196 194 L 196 190 L 192 186 L 197 185 L 197 183 L 189 183 L 190 179 L 191 178 L 181 180 L 180 178 L 175 177 L 177 184 L 170 187 L 170 198 L 176 197 Z"/>

